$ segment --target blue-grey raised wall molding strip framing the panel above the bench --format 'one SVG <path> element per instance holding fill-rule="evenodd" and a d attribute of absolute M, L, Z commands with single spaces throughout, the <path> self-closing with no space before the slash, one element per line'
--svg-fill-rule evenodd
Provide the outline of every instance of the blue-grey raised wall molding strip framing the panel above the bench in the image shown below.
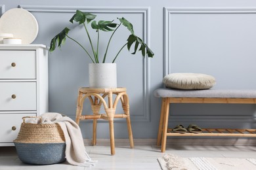
<path fill-rule="evenodd" d="M 163 9 L 163 41 L 164 41 L 164 63 L 163 76 L 171 73 L 171 18 L 174 14 L 256 14 L 255 7 L 164 7 Z"/>

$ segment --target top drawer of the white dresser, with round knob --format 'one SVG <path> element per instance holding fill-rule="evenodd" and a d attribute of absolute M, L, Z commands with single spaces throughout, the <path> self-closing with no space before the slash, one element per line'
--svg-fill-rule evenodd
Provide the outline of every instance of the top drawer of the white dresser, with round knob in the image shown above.
<path fill-rule="evenodd" d="M 0 79 L 36 78 L 35 50 L 0 50 Z"/>

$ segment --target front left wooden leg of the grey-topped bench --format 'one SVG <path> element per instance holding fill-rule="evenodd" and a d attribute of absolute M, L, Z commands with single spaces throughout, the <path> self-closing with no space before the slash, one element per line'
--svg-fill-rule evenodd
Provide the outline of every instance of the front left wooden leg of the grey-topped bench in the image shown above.
<path fill-rule="evenodd" d="M 161 152 L 165 152 L 166 148 L 166 139 L 167 139 L 167 127 L 168 127 L 168 118 L 169 118 L 169 99 L 163 98 L 164 109 L 163 109 L 163 134 L 161 139 Z"/>

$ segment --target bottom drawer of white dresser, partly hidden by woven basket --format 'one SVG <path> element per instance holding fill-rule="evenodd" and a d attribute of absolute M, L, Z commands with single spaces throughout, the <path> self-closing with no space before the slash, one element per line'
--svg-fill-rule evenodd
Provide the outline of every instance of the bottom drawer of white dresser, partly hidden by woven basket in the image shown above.
<path fill-rule="evenodd" d="M 24 116 L 36 114 L 0 114 L 0 143 L 12 143 L 16 139 Z"/>

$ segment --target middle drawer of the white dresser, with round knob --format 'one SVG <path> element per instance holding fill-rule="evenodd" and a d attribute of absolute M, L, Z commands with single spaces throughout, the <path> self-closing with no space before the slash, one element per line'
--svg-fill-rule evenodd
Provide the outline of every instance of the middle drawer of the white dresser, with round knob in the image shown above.
<path fill-rule="evenodd" d="M 36 110 L 35 82 L 0 82 L 0 110 Z"/>

